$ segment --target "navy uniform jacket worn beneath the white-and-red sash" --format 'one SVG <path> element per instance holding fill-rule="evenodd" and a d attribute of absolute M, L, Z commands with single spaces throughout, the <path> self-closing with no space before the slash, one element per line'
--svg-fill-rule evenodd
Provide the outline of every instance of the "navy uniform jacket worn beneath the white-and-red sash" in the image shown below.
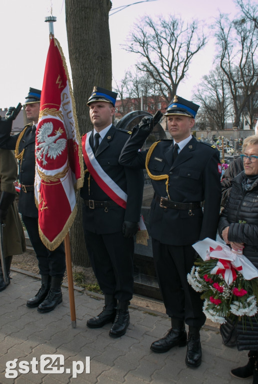
<path fill-rule="evenodd" d="M 88 133 L 89 134 L 89 133 Z M 141 214 L 143 171 L 141 169 L 130 169 L 118 162 L 121 150 L 128 139 L 128 132 L 117 129 L 114 125 L 108 130 L 95 153 L 95 157 L 104 171 L 127 193 L 126 209 L 119 205 L 109 206 L 108 211 L 104 207 L 91 209 L 85 207 L 86 220 L 85 229 L 98 233 L 115 233 L 122 230 L 123 221 L 138 222 Z M 91 132 L 89 142 L 93 148 L 93 133 Z M 90 177 L 90 194 L 88 191 L 88 176 L 86 172 L 80 195 L 84 200 L 108 201 L 110 197 Z"/>

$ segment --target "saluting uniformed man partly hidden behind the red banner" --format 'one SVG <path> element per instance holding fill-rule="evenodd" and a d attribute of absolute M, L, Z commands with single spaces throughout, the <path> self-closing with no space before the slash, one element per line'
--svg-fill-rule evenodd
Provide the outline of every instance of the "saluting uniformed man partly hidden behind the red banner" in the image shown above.
<path fill-rule="evenodd" d="M 62 302 L 61 283 L 65 271 L 65 252 L 63 244 L 50 251 L 42 243 L 38 232 L 38 210 L 34 198 L 35 177 L 35 134 L 39 117 L 41 90 L 29 88 L 25 97 L 25 111 L 31 123 L 23 130 L 10 135 L 11 129 L 0 128 L 0 147 L 15 149 L 19 161 L 19 181 L 21 184 L 18 210 L 26 226 L 31 244 L 38 259 L 41 287 L 36 295 L 27 301 L 30 308 L 39 312 L 49 312 Z M 12 107 L 11 107 L 12 108 Z M 11 109 L 9 108 L 9 109 Z"/>

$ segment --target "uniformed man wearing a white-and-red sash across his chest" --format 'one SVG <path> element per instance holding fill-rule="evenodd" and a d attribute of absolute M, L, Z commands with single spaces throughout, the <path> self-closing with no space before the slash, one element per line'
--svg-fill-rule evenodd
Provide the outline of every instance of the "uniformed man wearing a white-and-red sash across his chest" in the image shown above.
<path fill-rule="evenodd" d="M 143 173 L 118 163 L 128 132 L 112 124 L 117 93 L 94 87 L 88 99 L 94 129 L 82 137 L 86 167 L 83 228 L 94 273 L 105 295 L 103 311 L 87 321 L 90 328 L 113 322 L 112 337 L 129 324 L 133 295 L 133 235 L 140 220 Z"/>

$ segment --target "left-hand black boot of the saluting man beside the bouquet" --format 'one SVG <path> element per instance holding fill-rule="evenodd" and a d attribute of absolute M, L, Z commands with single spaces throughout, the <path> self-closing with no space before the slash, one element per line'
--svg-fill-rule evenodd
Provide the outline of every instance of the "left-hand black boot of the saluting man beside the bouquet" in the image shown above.
<path fill-rule="evenodd" d="M 171 328 L 166 336 L 154 341 L 151 344 L 151 350 L 154 352 L 162 353 L 167 352 L 174 346 L 186 346 L 187 333 L 185 327 Z"/>

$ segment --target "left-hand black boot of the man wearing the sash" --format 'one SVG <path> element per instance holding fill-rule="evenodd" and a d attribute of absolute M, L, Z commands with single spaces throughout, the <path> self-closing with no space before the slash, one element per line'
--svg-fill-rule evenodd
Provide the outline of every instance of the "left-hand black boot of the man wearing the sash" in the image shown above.
<path fill-rule="evenodd" d="M 116 316 L 117 299 L 112 294 L 105 294 L 105 305 L 102 312 L 89 318 L 86 325 L 89 328 L 101 328 L 103 325 L 113 322 Z"/>

